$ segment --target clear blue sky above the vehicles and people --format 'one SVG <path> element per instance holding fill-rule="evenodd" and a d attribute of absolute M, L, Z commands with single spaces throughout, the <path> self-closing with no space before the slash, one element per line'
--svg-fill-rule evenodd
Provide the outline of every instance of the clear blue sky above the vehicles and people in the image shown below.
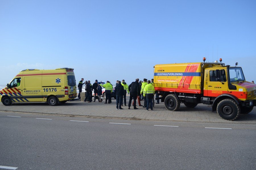
<path fill-rule="evenodd" d="M 0 0 L 0 84 L 22 69 L 80 78 L 153 78 L 165 63 L 238 62 L 256 80 L 256 1 Z"/>

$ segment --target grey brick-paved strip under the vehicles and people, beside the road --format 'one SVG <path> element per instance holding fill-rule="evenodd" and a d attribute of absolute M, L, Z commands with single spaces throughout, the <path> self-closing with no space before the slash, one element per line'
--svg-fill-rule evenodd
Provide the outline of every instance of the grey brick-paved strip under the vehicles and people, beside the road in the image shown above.
<path fill-rule="evenodd" d="M 127 105 L 128 105 L 127 100 Z M 143 104 L 143 101 L 142 101 Z M 179 111 L 168 111 L 163 103 L 155 104 L 154 111 L 145 111 L 143 107 L 123 106 L 123 110 L 115 109 L 115 100 L 111 104 L 84 103 L 83 101 L 72 101 L 57 106 L 49 106 L 47 103 L 15 103 L 5 106 L 0 103 L 0 111 L 17 111 L 48 114 L 67 114 L 84 116 L 102 116 L 115 118 L 133 118 L 138 120 L 162 120 L 162 121 L 189 121 L 189 122 L 224 122 L 224 123 L 252 123 L 256 124 L 256 108 L 249 114 L 241 114 L 235 121 L 220 118 L 217 112 L 212 112 L 207 105 L 199 104 L 195 108 L 187 108 L 181 104 Z"/>

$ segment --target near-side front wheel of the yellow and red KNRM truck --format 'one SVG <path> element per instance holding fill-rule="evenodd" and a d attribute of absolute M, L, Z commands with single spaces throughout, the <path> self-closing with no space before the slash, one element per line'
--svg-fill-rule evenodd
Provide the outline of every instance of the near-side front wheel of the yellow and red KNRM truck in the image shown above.
<path fill-rule="evenodd" d="M 240 114 L 240 106 L 232 99 L 224 99 L 217 105 L 218 115 L 226 120 L 235 120 Z"/>

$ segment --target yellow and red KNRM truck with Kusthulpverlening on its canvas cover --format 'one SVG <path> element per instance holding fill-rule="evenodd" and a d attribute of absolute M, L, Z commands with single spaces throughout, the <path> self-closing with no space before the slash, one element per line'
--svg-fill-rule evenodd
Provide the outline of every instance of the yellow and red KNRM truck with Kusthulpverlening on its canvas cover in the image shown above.
<path fill-rule="evenodd" d="M 199 103 L 226 120 L 247 114 L 256 105 L 256 84 L 247 82 L 241 67 L 220 59 L 214 63 L 175 63 L 154 66 L 154 86 L 166 109 L 177 111 L 180 103 L 194 108 Z"/>

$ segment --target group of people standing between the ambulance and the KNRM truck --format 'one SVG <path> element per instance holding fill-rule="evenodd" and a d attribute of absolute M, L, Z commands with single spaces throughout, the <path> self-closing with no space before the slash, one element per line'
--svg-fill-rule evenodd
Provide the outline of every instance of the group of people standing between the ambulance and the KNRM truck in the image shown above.
<path fill-rule="evenodd" d="M 84 99 L 84 102 L 86 102 L 87 99 L 89 99 L 88 102 L 92 102 L 92 91 L 94 91 L 94 102 L 96 101 L 96 96 L 98 96 L 98 101 L 102 102 L 101 99 L 102 95 L 102 87 L 105 88 L 105 94 L 106 94 L 106 101 L 105 103 L 111 103 L 111 93 L 113 91 L 113 86 L 109 81 L 106 81 L 106 84 L 102 84 L 101 82 L 98 82 L 98 80 L 95 80 L 95 83 L 91 84 L 90 80 L 84 81 L 84 78 L 82 78 L 79 81 L 78 89 L 79 94 L 78 98 L 80 99 L 80 93 L 82 92 L 82 86 L 85 84 L 85 90 L 86 90 L 86 97 Z M 130 99 L 128 103 L 128 109 L 131 107 L 131 102 L 133 100 L 133 109 L 138 109 L 136 107 L 136 100 L 138 99 L 139 106 L 141 105 L 141 100 L 144 99 L 144 105 L 143 107 L 145 110 L 148 111 L 149 107 L 151 110 L 153 110 L 154 107 L 154 79 L 147 80 L 146 78 L 143 79 L 143 82 L 139 82 L 139 78 L 135 80 L 135 82 L 132 82 L 129 86 L 125 82 L 125 80 L 116 81 L 115 86 L 115 95 L 116 95 L 116 109 L 123 109 L 123 104 L 126 106 L 126 94 L 130 94 Z M 141 99 L 142 96 L 142 99 Z M 156 93 L 156 97 L 159 97 Z M 124 100 L 123 100 L 124 99 Z M 157 99 L 157 103 L 159 104 L 159 99 Z"/>

